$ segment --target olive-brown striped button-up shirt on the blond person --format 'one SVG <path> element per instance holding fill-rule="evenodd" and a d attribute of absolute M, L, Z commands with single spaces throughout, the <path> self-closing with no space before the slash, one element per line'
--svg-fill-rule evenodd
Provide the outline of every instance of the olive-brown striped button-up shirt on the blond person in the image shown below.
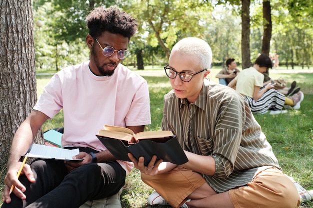
<path fill-rule="evenodd" d="M 162 130 L 181 147 L 215 160 L 215 174 L 202 174 L 216 192 L 244 186 L 254 174 L 278 162 L 243 97 L 230 87 L 203 81 L 194 103 L 173 91 L 164 96 Z"/>

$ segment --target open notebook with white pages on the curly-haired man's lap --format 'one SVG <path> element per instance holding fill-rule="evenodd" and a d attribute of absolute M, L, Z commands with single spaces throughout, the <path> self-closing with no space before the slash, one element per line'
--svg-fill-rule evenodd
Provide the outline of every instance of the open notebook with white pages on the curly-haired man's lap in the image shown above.
<path fill-rule="evenodd" d="M 27 151 L 27 153 L 28 153 L 29 158 L 41 158 L 41 159 L 64 160 L 64 161 L 82 161 L 83 160 L 83 159 L 75 159 L 75 160 L 72 159 L 73 156 L 79 154 L 78 148 L 69 150 L 69 149 L 51 147 L 51 146 L 46 146 L 46 145 L 32 144 L 29 150 Z"/>

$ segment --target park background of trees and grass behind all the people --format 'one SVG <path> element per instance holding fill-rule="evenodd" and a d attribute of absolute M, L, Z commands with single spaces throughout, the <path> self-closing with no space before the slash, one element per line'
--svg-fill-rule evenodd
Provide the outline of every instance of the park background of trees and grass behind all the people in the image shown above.
<path fill-rule="evenodd" d="M 160 128 L 162 98 L 170 90 L 162 66 L 179 39 L 196 36 L 213 51 L 209 77 L 233 57 L 242 69 L 258 53 L 279 55 L 272 78 L 296 80 L 304 93 L 299 111 L 255 115 L 288 176 L 313 189 L 312 57 L 313 1 L 307 0 L 2 0 L 0 2 L 0 167 L 5 175 L 10 141 L 51 74 L 88 60 L 84 17 L 95 6 L 115 5 L 138 20 L 123 64 L 149 84 L 152 124 Z M 47 74 L 47 75 L 42 75 Z M 61 113 L 43 131 L 62 125 Z M 42 143 L 38 133 L 35 142 Z M 3 181 L 1 179 L 1 181 Z M 2 187 L 2 186 L 1 186 Z M 149 208 L 151 189 L 134 170 L 122 195 L 123 208 Z M 312 207 L 303 203 L 302 207 Z"/>

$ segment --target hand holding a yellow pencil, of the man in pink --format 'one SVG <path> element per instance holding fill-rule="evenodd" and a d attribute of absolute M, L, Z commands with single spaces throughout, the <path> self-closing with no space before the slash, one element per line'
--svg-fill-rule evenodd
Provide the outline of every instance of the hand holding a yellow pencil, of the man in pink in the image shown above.
<path fill-rule="evenodd" d="M 14 189 L 13 189 L 13 194 L 20 198 L 21 200 L 25 200 L 26 196 L 23 194 L 23 192 L 26 191 L 26 188 L 18 181 L 17 178 L 17 172 L 21 166 L 21 162 L 18 162 L 14 165 L 11 165 L 8 168 L 7 174 L 4 178 L 4 189 L 3 189 L 3 194 L 2 194 L 2 201 L 6 202 L 7 204 L 9 204 L 11 202 L 11 198 L 10 198 L 10 189 L 12 187 L 12 185 L 14 185 Z M 20 175 L 25 175 L 28 179 L 29 182 L 34 183 L 35 179 L 33 176 L 33 173 L 30 169 L 30 166 L 25 164 Z"/>

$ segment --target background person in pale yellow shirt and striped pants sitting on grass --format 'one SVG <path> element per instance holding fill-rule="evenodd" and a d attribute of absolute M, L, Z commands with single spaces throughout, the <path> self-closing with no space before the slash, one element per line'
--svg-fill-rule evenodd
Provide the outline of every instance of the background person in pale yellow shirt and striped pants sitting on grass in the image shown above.
<path fill-rule="evenodd" d="M 266 113 L 268 110 L 282 110 L 284 105 L 298 110 L 304 98 L 301 91 L 285 97 L 284 94 L 274 89 L 271 82 L 263 86 L 266 69 L 272 67 L 270 58 L 260 54 L 252 67 L 243 69 L 227 86 L 239 92 L 251 108 L 252 113 Z"/>

